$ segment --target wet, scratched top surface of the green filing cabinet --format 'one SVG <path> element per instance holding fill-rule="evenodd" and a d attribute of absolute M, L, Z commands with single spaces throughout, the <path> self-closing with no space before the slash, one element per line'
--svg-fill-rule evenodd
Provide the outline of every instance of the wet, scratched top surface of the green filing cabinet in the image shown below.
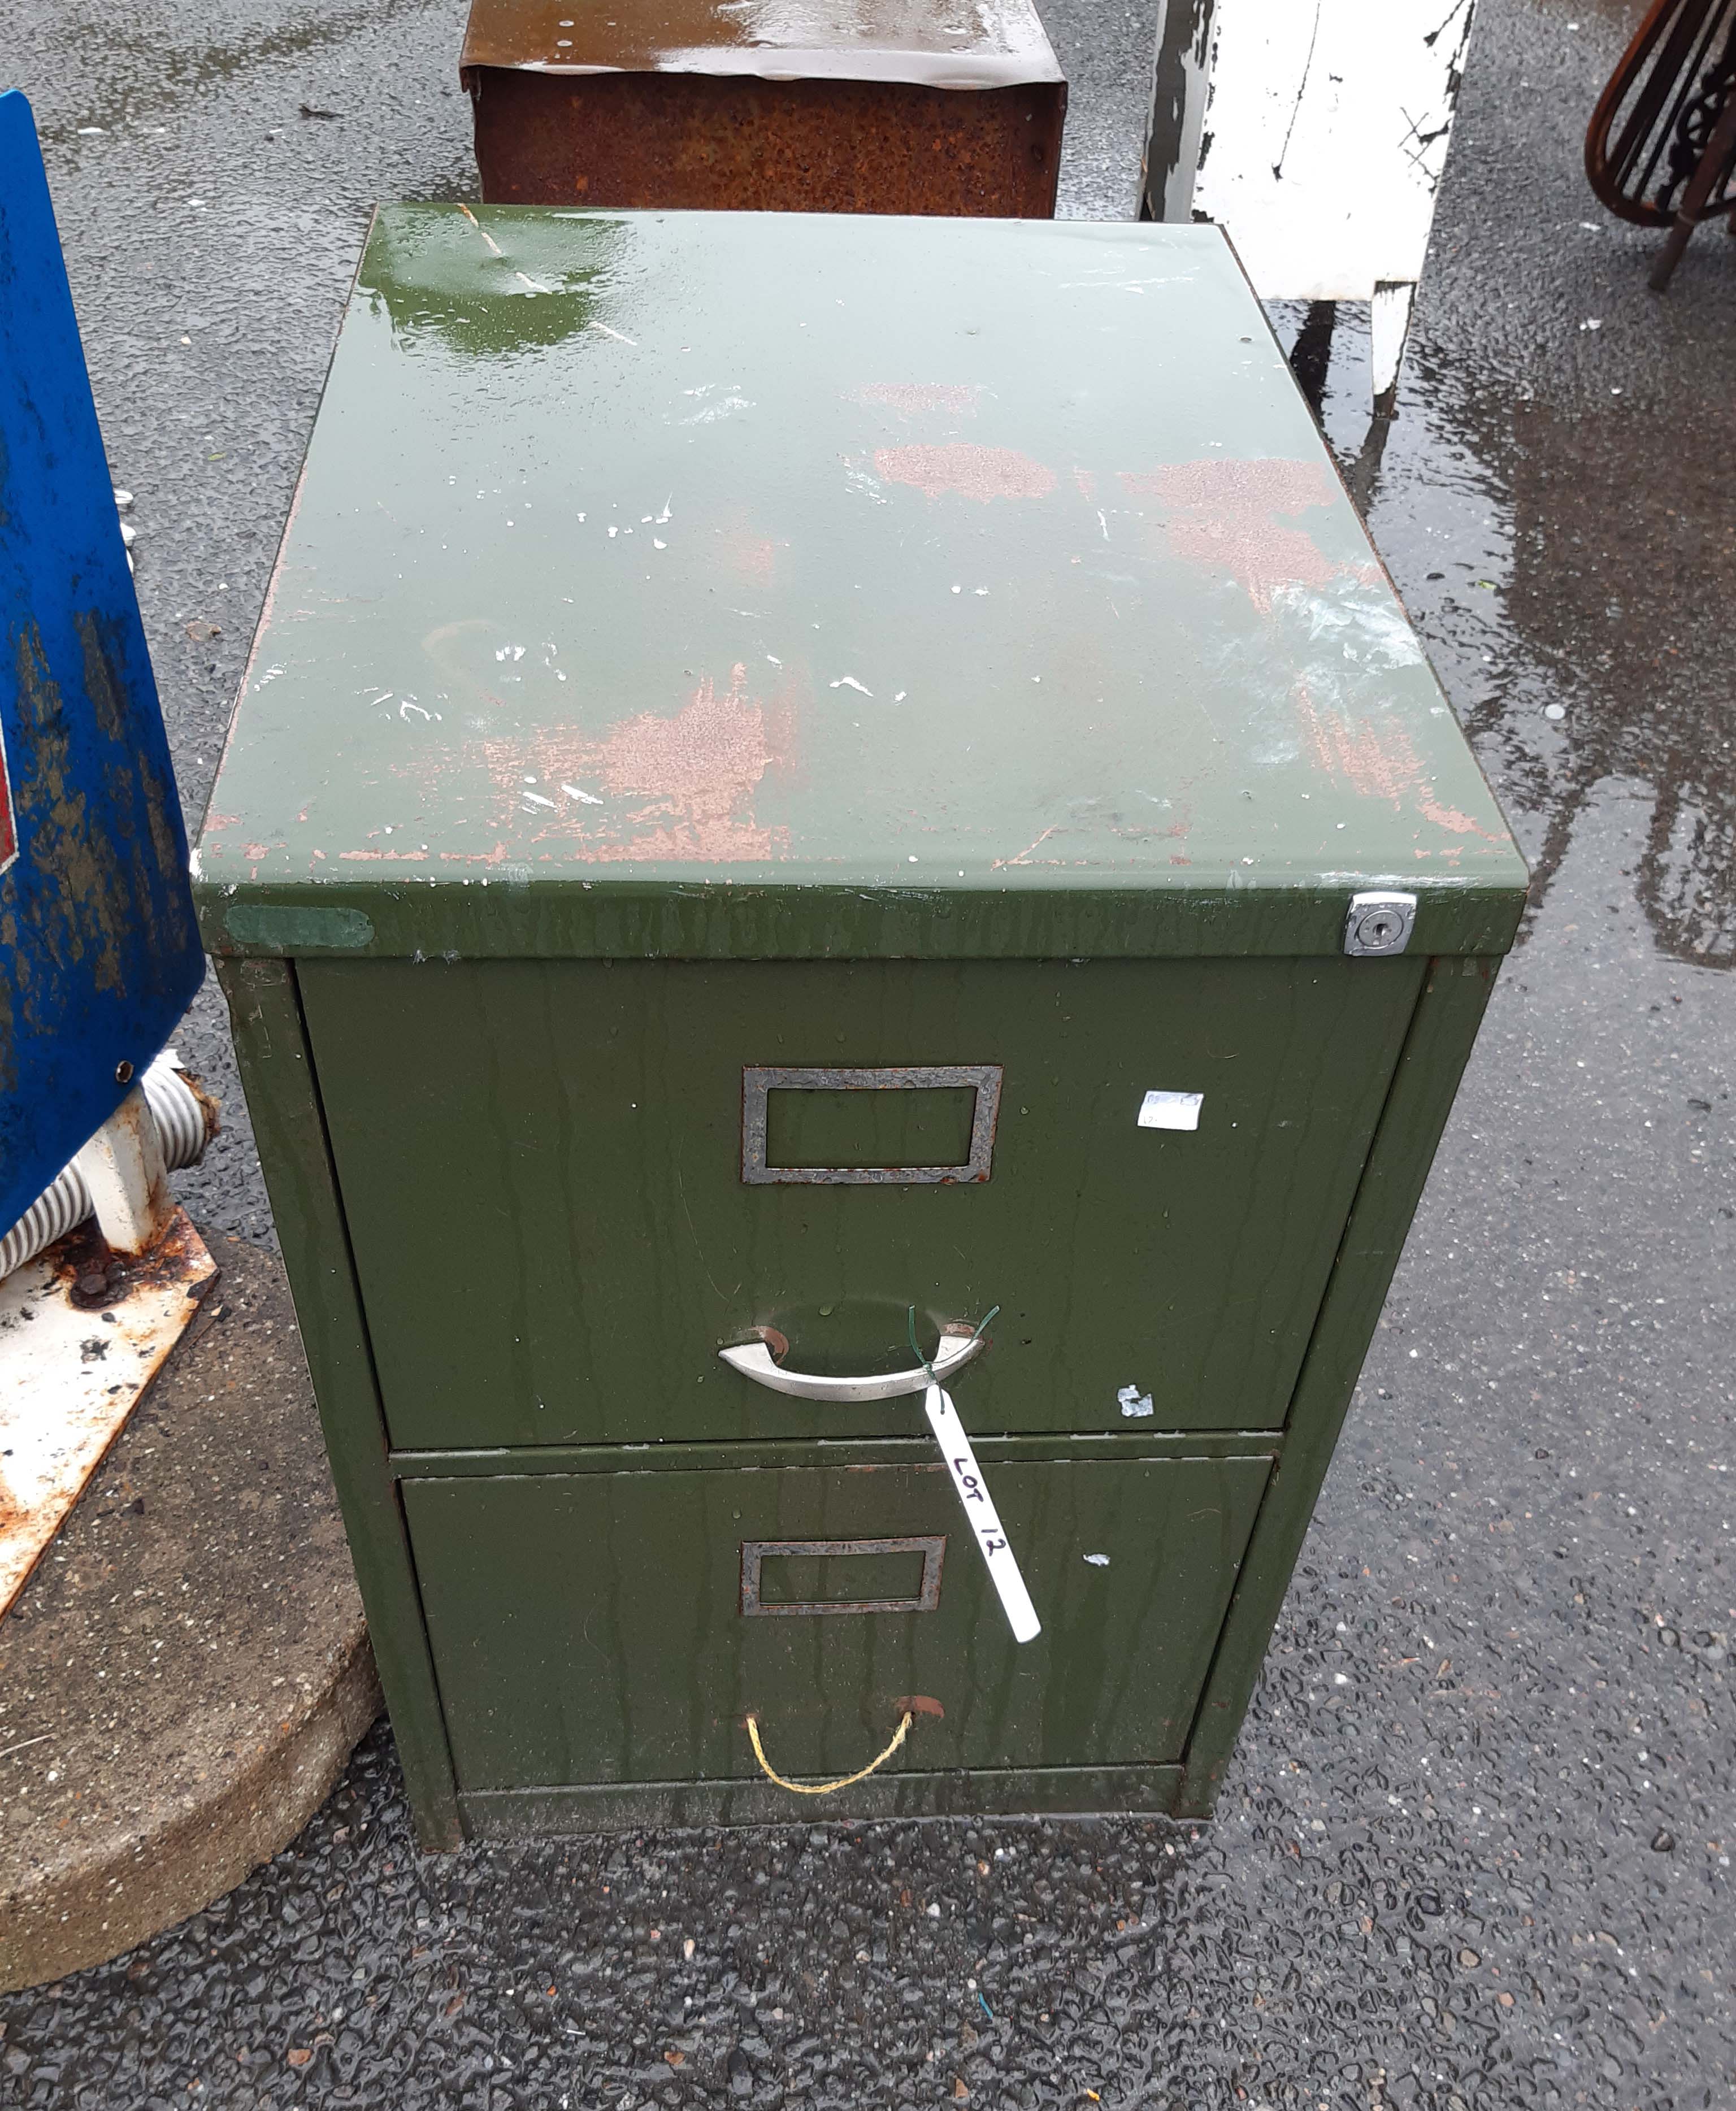
<path fill-rule="evenodd" d="M 1525 889 L 1219 230 L 437 205 L 374 224 L 196 870 L 207 935 Z"/>

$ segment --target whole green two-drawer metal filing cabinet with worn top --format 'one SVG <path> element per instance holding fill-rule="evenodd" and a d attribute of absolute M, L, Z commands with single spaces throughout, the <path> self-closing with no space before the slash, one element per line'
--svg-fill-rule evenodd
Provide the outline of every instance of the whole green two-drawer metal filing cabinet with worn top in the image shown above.
<path fill-rule="evenodd" d="M 424 1839 L 1210 1809 L 1525 895 L 1216 230 L 382 211 L 199 891 Z"/>

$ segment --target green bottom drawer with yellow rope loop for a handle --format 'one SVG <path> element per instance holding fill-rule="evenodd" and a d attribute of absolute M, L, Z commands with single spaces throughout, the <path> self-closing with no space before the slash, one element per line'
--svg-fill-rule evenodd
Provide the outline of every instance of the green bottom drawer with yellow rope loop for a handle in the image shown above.
<path fill-rule="evenodd" d="M 408 1480 L 458 1786 L 1176 1761 L 1269 1469 L 984 1461 L 1024 1647 L 938 1461 Z"/>

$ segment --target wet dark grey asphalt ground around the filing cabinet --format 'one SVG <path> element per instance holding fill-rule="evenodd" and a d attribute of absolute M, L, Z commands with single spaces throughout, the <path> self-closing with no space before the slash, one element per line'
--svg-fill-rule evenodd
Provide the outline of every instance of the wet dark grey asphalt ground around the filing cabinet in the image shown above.
<path fill-rule="evenodd" d="M 367 205 L 473 188 L 463 4 L 139 13 L 0 0 L 0 76 L 196 815 Z M 1045 6 L 1069 211 L 1132 211 L 1147 13 Z M 1483 0 L 1472 38 L 1371 519 L 1535 910 L 1219 1818 L 429 1860 L 380 1731 L 222 1904 L 0 2001 L 0 2105 L 1736 2103 L 1736 245 L 1660 302 L 1584 188 L 1633 19 Z M 1364 407 L 1345 315 L 1345 458 Z M 182 1191 L 266 1237 L 215 1003 L 182 1045 L 232 1112 Z"/>

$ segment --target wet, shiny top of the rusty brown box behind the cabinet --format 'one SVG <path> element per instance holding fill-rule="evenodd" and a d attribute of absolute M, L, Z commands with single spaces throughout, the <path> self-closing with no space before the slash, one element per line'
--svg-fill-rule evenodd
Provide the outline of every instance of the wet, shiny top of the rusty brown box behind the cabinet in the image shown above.
<path fill-rule="evenodd" d="M 1060 80 L 1031 0 L 473 0 L 460 65 L 1005 89 Z"/>

